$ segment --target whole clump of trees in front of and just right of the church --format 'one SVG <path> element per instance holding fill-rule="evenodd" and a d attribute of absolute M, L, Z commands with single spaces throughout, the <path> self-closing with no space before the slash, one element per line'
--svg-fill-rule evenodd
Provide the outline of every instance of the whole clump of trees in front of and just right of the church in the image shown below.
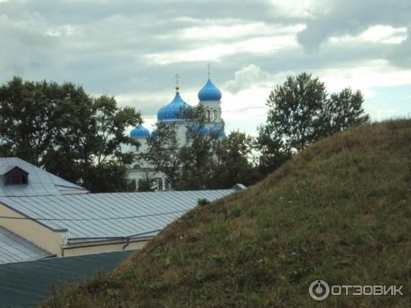
<path fill-rule="evenodd" d="M 219 131 L 201 133 L 206 125 L 202 105 L 185 110 L 183 118 L 189 142 L 179 140 L 178 123 L 159 122 L 147 140 L 147 152 L 140 155 L 141 164 L 164 173 L 175 190 L 231 188 L 256 181 L 249 136 L 237 131 L 221 139 Z"/>

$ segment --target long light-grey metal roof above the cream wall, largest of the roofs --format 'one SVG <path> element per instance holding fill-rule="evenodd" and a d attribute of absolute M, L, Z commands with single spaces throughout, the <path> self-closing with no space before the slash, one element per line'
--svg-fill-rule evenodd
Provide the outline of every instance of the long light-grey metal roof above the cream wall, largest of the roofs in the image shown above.
<path fill-rule="evenodd" d="M 68 229 L 68 238 L 124 238 L 155 235 L 197 205 L 236 190 L 129 192 L 62 196 L 0 197 L 0 203 L 50 229 Z M 138 237 L 138 236 L 136 236 Z"/>

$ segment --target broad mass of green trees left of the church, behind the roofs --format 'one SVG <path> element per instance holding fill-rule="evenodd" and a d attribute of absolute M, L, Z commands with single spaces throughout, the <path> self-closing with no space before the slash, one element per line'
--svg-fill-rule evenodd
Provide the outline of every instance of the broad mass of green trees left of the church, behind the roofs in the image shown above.
<path fill-rule="evenodd" d="M 133 190 L 125 164 L 136 144 L 123 135 L 141 122 L 114 97 L 90 97 L 81 86 L 14 77 L 0 87 L 1 155 L 16 156 L 92 192 Z M 138 144 L 136 144 L 138 145 Z"/>

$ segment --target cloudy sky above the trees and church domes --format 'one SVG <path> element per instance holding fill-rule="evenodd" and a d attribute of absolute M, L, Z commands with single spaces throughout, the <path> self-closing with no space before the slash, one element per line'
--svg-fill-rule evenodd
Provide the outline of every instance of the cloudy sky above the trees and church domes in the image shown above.
<path fill-rule="evenodd" d="M 0 83 L 14 75 L 114 94 L 147 128 L 180 90 L 223 92 L 227 131 L 256 134 L 275 84 L 302 71 L 364 93 L 374 120 L 411 115 L 410 0 L 0 0 Z"/>

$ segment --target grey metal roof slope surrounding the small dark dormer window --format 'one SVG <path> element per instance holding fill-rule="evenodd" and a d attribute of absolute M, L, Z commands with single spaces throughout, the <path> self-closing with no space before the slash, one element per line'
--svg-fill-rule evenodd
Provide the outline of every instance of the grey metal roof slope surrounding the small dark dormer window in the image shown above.
<path fill-rule="evenodd" d="M 42 170 L 17 157 L 0 157 L 0 173 L 11 170 L 14 166 L 29 173 L 29 183 L 23 185 L 4 185 L 0 177 L 0 196 L 47 196 L 64 192 L 86 192 L 86 188 L 70 183 L 60 177 Z"/>

